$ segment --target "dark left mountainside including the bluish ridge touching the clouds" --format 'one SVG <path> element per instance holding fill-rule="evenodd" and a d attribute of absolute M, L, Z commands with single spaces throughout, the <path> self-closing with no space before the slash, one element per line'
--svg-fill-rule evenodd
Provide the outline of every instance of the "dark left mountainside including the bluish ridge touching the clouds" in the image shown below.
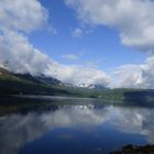
<path fill-rule="evenodd" d="M 69 95 L 62 82 L 52 77 L 14 74 L 0 68 L 0 94 Z"/>

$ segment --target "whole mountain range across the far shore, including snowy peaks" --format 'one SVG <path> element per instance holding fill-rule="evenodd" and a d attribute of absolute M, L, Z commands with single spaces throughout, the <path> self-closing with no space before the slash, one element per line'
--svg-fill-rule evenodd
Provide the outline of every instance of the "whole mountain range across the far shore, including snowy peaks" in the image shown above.
<path fill-rule="evenodd" d="M 100 85 L 65 85 L 44 75 L 14 74 L 0 68 L 0 95 L 48 95 L 82 98 L 101 98 L 112 102 L 154 103 L 154 89 L 109 89 Z"/>

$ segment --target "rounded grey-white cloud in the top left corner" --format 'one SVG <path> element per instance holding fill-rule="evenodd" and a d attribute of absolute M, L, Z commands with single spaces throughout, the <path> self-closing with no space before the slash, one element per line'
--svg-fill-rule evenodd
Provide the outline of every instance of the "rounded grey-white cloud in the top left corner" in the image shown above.
<path fill-rule="evenodd" d="M 46 24 L 47 16 L 37 0 L 0 0 L 0 29 L 29 32 Z"/>

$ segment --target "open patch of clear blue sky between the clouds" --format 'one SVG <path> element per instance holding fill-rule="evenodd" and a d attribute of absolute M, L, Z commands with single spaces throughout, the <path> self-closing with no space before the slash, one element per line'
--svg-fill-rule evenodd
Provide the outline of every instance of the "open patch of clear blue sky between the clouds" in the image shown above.
<path fill-rule="evenodd" d="M 119 32 L 108 26 L 81 25 L 76 12 L 62 0 L 41 0 L 50 14 L 50 24 L 57 34 L 48 31 L 35 31 L 30 41 L 55 61 L 70 65 L 95 64 L 98 68 L 110 69 L 124 64 L 141 64 L 145 56 L 133 48 L 121 44 Z M 80 37 L 73 37 L 72 32 L 80 28 L 89 31 Z M 64 58 L 63 55 L 74 54 L 78 59 Z"/>

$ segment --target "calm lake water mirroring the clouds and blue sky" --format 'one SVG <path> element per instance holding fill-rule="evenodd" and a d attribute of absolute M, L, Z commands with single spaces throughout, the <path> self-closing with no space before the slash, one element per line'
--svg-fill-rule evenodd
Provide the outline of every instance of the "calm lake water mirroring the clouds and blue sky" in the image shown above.
<path fill-rule="evenodd" d="M 130 143 L 154 143 L 153 108 L 88 101 L 0 106 L 0 154 L 106 154 Z"/>

